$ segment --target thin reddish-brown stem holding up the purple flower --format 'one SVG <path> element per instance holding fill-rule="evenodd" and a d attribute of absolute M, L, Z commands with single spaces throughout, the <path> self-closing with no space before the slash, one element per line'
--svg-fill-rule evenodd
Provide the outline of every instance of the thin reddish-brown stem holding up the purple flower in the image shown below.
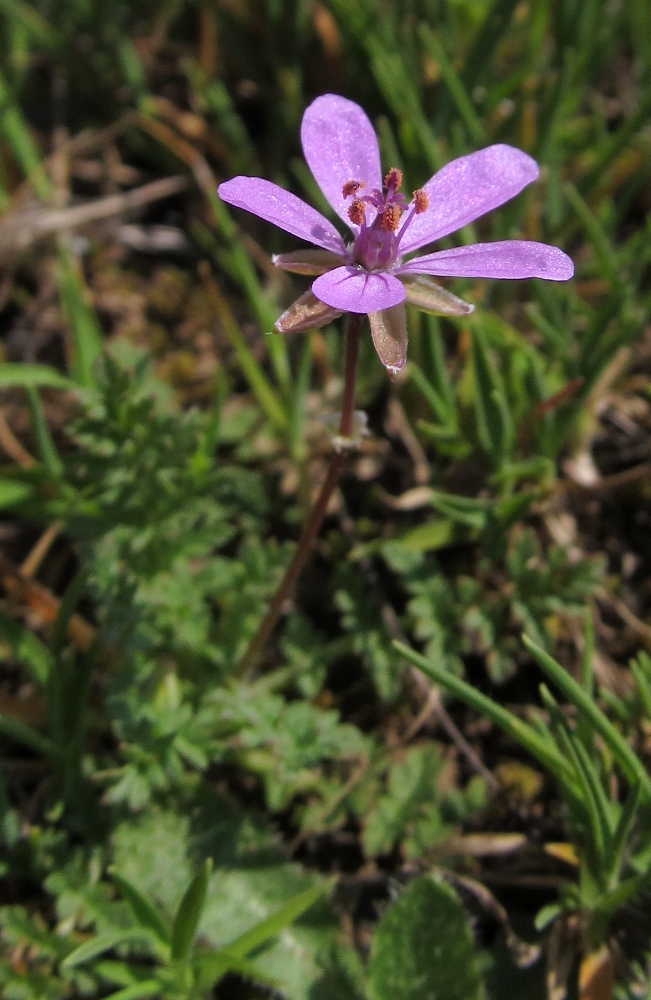
<path fill-rule="evenodd" d="M 359 331 L 362 325 L 362 315 L 352 313 L 348 320 L 348 331 L 346 334 L 346 374 L 344 379 L 344 397 L 341 404 L 341 419 L 339 421 L 339 436 L 349 438 L 353 430 L 353 420 L 355 417 L 355 375 L 357 372 L 357 354 L 359 349 Z M 294 593 L 294 588 L 298 582 L 305 564 L 307 563 L 312 547 L 323 519 L 328 509 L 330 497 L 335 491 L 339 482 L 339 474 L 345 462 L 346 456 L 343 452 L 335 452 L 330 459 L 330 467 L 321 487 L 310 515 L 303 525 L 301 536 L 296 546 L 296 551 L 289 566 L 285 570 L 285 575 L 281 580 L 278 590 L 274 594 L 271 604 L 265 617 L 262 619 L 258 630 L 249 644 L 249 648 L 239 662 L 235 675 L 246 676 L 257 666 L 264 647 L 266 646 L 271 633 L 273 632 L 278 619 L 280 618 L 285 603 Z"/>

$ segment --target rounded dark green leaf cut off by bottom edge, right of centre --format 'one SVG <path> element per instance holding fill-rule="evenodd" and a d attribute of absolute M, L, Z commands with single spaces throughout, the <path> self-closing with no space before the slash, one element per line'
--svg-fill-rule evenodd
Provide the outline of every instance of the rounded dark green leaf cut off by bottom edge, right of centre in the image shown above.
<path fill-rule="evenodd" d="M 468 921 L 454 891 L 424 876 L 380 920 L 368 964 L 370 1000 L 479 1000 Z"/>

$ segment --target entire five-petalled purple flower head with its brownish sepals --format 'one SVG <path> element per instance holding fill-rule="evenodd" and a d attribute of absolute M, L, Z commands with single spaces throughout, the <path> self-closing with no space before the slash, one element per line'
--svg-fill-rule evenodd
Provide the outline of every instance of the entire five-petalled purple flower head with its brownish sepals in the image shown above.
<path fill-rule="evenodd" d="M 439 315 L 473 310 L 430 275 L 566 281 L 574 274 L 562 250 L 524 240 L 408 257 L 534 181 L 538 166 L 519 149 L 498 144 L 461 156 L 407 202 L 399 192 L 400 170 L 393 168 L 382 179 L 377 138 L 359 105 L 336 94 L 317 97 L 303 115 L 301 140 L 315 180 L 351 230 L 352 241 L 344 242 L 320 212 L 271 181 L 233 177 L 219 186 L 223 201 L 319 248 L 273 258 L 287 271 L 318 276 L 277 321 L 277 332 L 315 329 L 344 312 L 368 313 L 380 360 L 395 374 L 407 358 L 405 301 Z"/>

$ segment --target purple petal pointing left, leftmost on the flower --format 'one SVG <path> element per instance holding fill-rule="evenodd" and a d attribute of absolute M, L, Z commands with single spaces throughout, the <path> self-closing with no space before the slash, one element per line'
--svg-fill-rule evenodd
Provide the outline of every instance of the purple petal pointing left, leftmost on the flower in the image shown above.
<path fill-rule="evenodd" d="M 222 201 L 272 222 L 293 236 L 342 256 L 344 242 L 331 222 L 295 194 L 262 177 L 233 177 L 220 184 Z"/>

